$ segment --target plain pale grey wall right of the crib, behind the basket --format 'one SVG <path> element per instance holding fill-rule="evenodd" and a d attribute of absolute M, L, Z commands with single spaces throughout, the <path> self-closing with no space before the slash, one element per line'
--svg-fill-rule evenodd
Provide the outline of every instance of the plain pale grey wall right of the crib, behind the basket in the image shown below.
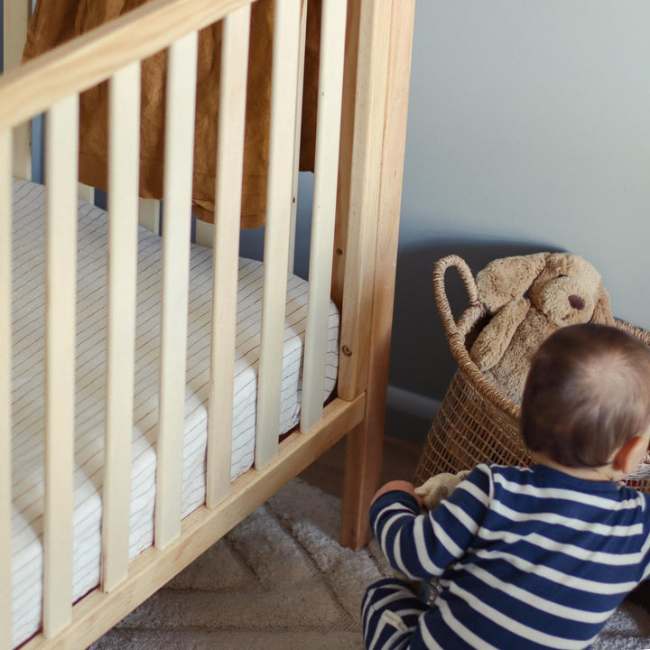
<path fill-rule="evenodd" d="M 404 417 L 389 432 L 422 437 L 454 371 L 432 300 L 441 255 L 476 273 L 570 250 L 617 317 L 650 328 L 648 25 L 645 0 L 418 1 L 389 379 Z"/>

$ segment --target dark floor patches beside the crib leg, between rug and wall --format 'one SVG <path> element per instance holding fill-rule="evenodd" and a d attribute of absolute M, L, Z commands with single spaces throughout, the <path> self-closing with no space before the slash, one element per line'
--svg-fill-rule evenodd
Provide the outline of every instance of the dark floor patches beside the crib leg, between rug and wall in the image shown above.
<path fill-rule="evenodd" d="M 394 478 L 411 480 L 415 473 L 422 445 L 386 436 L 382 463 L 382 483 Z M 300 478 L 320 487 L 334 497 L 341 496 L 343 468 L 345 467 L 345 439 L 305 469 Z"/>

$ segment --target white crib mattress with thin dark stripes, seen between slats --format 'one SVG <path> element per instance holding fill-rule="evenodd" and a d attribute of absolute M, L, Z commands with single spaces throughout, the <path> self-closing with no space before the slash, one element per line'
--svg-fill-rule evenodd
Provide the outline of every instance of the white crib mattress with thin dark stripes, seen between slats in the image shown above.
<path fill-rule="evenodd" d="M 41 626 L 44 459 L 44 188 L 14 181 L 13 615 L 14 645 Z M 107 214 L 79 201 L 73 598 L 99 583 L 101 482 L 106 395 Z M 162 239 L 139 231 L 135 406 L 131 473 L 133 558 L 153 543 L 160 353 Z M 190 304 L 182 465 L 182 515 L 205 503 L 212 251 L 191 246 Z M 256 376 L 264 266 L 240 259 L 231 478 L 255 452 Z M 284 329 L 281 430 L 298 422 L 308 284 L 291 275 Z M 326 385 L 338 370 L 339 313 L 332 303 Z"/>

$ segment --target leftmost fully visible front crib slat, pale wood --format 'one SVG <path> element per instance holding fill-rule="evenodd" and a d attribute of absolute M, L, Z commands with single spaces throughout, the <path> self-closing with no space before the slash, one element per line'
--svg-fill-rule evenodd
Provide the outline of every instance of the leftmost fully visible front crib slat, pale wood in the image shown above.
<path fill-rule="evenodd" d="M 47 114 L 43 635 L 72 614 L 79 98 Z"/>

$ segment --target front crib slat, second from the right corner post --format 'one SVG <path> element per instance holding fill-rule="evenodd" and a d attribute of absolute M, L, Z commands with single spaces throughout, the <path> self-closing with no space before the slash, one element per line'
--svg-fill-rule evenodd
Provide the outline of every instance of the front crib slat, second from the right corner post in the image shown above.
<path fill-rule="evenodd" d="M 300 0 L 277 0 L 275 3 L 274 30 L 283 34 L 283 38 L 274 39 L 273 53 L 265 279 L 255 435 L 257 469 L 262 469 L 274 458 L 278 447 L 300 9 Z"/>

